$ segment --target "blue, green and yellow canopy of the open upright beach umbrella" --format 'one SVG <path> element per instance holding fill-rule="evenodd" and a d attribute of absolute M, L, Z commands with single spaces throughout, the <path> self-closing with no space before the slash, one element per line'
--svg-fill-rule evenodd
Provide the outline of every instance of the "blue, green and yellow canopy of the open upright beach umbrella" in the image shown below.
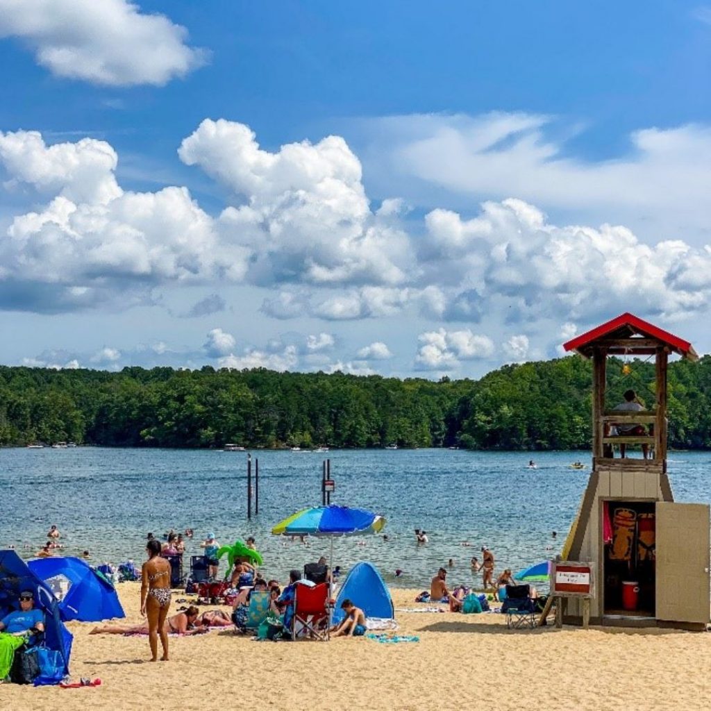
<path fill-rule="evenodd" d="M 385 518 L 363 508 L 314 506 L 297 511 L 272 528 L 274 535 L 341 536 L 378 533 Z"/>

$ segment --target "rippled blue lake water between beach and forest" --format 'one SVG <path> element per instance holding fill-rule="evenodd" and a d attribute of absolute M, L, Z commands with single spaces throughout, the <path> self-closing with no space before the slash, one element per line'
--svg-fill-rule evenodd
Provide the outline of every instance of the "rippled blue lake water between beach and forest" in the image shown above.
<path fill-rule="evenodd" d="M 193 528 L 188 555 L 199 554 L 198 539 L 208 531 L 220 543 L 255 535 L 264 571 L 284 579 L 290 568 L 328 555 L 324 540 L 311 539 L 305 547 L 269 533 L 299 508 L 321 503 L 321 466 L 328 457 L 336 481 L 332 502 L 382 513 L 390 538 L 336 540 L 334 563 L 348 567 L 370 560 L 390 582 L 400 568 L 397 584 L 424 589 L 449 558 L 455 564 L 451 582 L 471 582 L 469 559 L 476 554 L 481 560 L 482 545 L 493 550 L 498 571 L 553 555 L 550 547 L 562 546 L 589 474 L 570 469 L 570 463 L 590 461 L 589 452 L 447 449 L 253 456 L 260 462 L 260 513 L 248 521 L 244 453 L 0 449 L 0 547 L 14 545 L 21 555 L 34 555 L 56 523 L 67 555 L 88 548 L 95 565 L 140 562 L 148 531 Z M 526 468 L 530 456 L 538 469 Z M 669 470 L 677 501 L 711 502 L 711 453 L 672 452 Z M 415 543 L 415 528 L 427 530 L 429 544 Z"/>

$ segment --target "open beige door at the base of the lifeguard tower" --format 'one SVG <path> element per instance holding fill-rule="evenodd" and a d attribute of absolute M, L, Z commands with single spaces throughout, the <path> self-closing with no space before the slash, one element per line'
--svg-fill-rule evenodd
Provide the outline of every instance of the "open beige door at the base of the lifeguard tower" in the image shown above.
<path fill-rule="evenodd" d="M 656 504 L 656 618 L 709 621 L 709 506 Z"/>

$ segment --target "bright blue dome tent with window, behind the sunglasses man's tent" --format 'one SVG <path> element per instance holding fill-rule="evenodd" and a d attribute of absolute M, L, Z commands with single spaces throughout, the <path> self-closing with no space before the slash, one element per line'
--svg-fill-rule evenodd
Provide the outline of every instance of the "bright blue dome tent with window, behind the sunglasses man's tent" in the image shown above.
<path fill-rule="evenodd" d="M 114 586 L 80 558 L 38 558 L 27 564 L 54 593 L 64 621 L 125 617 Z"/>

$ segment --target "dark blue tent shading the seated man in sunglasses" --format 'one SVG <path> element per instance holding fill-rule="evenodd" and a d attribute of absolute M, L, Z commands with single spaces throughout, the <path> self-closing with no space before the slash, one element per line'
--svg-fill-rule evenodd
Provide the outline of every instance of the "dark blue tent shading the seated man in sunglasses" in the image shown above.
<path fill-rule="evenodd" d="M 23 590 L 34 593 L 35 606 L 45 615 L 44 644 L 60 653 L 65 674 L 68 674 L 73 636 L 64 626 L 52 590 L 14 550 L 0 550 L 0 616 L 18 609 L 18 598 Z"/>

